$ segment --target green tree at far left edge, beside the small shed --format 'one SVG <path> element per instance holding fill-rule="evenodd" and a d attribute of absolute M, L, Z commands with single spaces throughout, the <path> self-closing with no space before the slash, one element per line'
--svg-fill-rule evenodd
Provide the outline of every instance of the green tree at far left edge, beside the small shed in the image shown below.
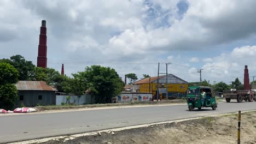
<path fill-rule="evenodd" d="M 0 107 L 11 109 L 18 99 L 14 83 L 18 82 L 19 72 L 13 65 L 0 62 Z"/>

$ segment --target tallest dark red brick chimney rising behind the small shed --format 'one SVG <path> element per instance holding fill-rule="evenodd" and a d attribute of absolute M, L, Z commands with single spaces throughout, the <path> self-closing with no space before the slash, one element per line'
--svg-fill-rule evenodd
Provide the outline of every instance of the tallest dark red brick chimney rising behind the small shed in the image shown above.
<path fill-rule="evenodd" d="M 47 46 L 46 46 L 46 21 L 42 20 L 42 26 L 40 27 L 37 67 L 47 67 Z"/>

